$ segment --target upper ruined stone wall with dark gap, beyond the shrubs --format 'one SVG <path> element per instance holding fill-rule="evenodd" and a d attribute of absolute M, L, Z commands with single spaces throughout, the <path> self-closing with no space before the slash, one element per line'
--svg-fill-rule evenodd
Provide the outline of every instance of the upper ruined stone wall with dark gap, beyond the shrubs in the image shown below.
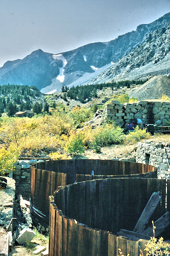
<path fill-rule="evenodd" d="M 139 101 L 120 104 L 119 101 L 111 101 L 106 105 L 104 115 L 121 127 L 136 118 L 142 119 L 144 124 L 163 125 L 170 119 L 170 102 Z"/>

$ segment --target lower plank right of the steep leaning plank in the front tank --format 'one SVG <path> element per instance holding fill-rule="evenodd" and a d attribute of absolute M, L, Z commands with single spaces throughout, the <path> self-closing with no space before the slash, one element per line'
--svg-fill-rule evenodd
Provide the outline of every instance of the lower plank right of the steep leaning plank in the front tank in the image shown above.
<path fill-rule="evenodd" d="M 158 220 L 154 222 L 154 226 L 156 226 L 155 237 L 158 237 L 169 225 L 169 223 L 169 212 L 166 212 L 164 215 L 162 215 Z M 142 232 L 142 234 L 145 234 L 150 237 L 153 236 L 153 225 L 150 225 L 147 229 L 145 229 Z"/>

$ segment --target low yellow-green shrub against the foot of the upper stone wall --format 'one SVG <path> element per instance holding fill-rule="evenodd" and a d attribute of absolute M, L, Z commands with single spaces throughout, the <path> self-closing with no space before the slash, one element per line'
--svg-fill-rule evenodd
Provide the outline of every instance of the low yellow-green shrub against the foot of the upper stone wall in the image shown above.
<path fill-rule="evenodd" d="M 147 129 L 139 129 L 139 126 L 136 126 L 134 131 L 129 132 L 128 135 L 125 137 L 125 143 L 136 143 L 142 139 L 147 139 L 150 137 L 150 133 L 147 132 Z"/>

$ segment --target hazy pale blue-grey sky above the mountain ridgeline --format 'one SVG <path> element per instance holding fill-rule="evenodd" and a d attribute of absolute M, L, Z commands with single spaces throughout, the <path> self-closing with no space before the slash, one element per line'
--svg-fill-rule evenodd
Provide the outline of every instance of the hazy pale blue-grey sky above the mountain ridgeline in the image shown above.
<path fill-rule="evenodd" d="M 170 0 L 0 0 L 0 66 L 107 42 L 169 11 Z"/>

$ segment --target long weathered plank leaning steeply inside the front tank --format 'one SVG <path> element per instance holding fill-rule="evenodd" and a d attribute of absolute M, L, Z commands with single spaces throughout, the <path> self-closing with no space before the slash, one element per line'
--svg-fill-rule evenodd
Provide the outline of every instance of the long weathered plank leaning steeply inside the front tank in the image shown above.
<path fill-rule="evenodd" d="M 160 200 L 161 200 L 161 196 L 159 195 L 159 191 L 153 192 L 138 222 L 136 223 L 136 226 L 133 229 L 134 232 L 142 233 L 145 230 L 145 226 L 150 220 L 151 215 L 153 214 Z"/>

